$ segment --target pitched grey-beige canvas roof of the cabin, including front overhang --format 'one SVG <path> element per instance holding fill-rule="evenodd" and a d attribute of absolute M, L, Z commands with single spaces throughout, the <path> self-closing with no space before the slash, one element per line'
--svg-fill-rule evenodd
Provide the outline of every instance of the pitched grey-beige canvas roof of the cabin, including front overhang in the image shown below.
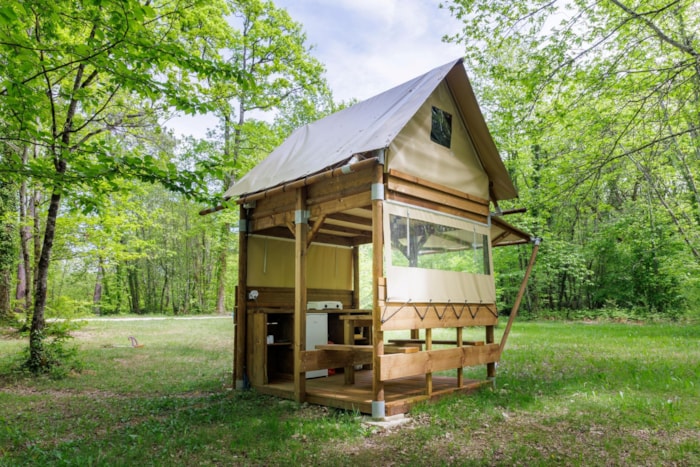
<path fill-rule="evenodd" d="M 486 127 L 462 59 L 435 68 L 393 89 L 305 125 L 241 178 L 229 199 L 344 165 L 357 155 L 389 146 L 435 88 L 446 80 L 460 109 L 496 200 L 517 197 Z"/>

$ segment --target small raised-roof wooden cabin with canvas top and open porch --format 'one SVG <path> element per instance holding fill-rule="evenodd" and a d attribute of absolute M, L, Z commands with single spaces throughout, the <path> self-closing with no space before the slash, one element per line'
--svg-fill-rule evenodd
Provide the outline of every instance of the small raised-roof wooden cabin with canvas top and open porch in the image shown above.
<path fill-rule="evenodd" d="M 517 193 L 461 60 L 299 128 L 225 197 L 236 388 L 383 418 L 492 384 L 491 249 L 531 238 L 498 214 Z"/>

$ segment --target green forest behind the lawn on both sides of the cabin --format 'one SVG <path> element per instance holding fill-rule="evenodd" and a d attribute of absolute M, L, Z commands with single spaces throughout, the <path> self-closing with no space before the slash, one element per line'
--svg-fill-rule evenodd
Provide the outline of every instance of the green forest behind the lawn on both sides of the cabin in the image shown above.
<path fill-rule="evenodd" d="M 520 193 L 501 207 L 544 238 L 523 313 L 697 318 L 699 2 L 435 8 Z M 351 104 L 271 1 L 1 2 L 0 62 L 0 314 L 36 365 L 46 316 L 230 313 L 237 210 L 199 211 Z M 178 138 L 176 112 L 218 124 Z M 528 257 L 495 253 L 502 310 Z"/>

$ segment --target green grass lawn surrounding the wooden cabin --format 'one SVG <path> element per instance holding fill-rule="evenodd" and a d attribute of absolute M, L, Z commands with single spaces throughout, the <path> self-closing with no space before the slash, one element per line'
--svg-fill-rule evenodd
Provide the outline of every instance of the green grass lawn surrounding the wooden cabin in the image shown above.
<path fill-rule="evenodd" d="M 231 391 L 232 329 L 90 321 L 61 380 L 13 371 L 1 334 L 0 465 L 700 465 L 698 324 L 516 322 L 495 391 L 394 430 Z"/>

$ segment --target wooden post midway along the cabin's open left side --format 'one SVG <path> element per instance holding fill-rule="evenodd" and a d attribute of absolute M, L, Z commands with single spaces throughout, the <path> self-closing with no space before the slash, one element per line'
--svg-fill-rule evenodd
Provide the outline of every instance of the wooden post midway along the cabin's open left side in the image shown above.
<path fill-rule="evenodd" d="M 306 399 L 306 373 L 301 371 L 301 352 L 306 350 L 306 254 L 309 233 L 306 188 L 297 190 L 294 213 L 294 400 Z"/>

